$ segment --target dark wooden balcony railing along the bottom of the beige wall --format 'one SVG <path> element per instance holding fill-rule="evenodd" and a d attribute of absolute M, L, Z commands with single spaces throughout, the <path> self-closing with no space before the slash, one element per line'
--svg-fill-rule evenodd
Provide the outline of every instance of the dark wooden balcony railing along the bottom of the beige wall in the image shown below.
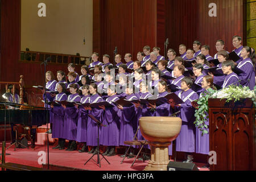
<path fill-rule="evenodd" d="M 76 55 L 64 55 L 60 53 L 48 53 L 48 52 L 35 52 L 35 51 L 20 51 L 20 61 L 30 62 L 42 62 L 48 57 L 51 58 L 48 63 L 56 64 L 69 64 L 74 63 L 78 65 L 89 65 L 89 57 L 76 56 Z"/>

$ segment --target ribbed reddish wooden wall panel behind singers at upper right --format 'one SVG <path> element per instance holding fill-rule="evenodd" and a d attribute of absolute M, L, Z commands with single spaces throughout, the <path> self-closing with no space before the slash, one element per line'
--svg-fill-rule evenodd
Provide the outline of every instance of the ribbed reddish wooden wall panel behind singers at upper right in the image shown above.
<path fill-rule="evenodd" d="M 210 55 L 216 53 L 215 43 L 223 39 L 226 50 L 232 51 L 232 36 L 243 38 L 243 0 L 166 1 L 168 6 L 167 37 L 169 48 L 177 52 L 179 44 L 192 48 L 194 40 L 210 46 Z M 209 3 L 216 3 L 217 17 L 210 17 Z"/>

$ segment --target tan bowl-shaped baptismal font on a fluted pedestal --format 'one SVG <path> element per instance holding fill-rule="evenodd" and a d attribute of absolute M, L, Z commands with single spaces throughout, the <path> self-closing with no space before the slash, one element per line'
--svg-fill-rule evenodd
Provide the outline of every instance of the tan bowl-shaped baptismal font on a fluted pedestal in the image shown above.
<path fill-rule="evenodd" d="M 170 162 L 168 146 L 180 133 L 181 119 L 178 117 L 141 117 L 139 127 L 142 136 L 151 148 L 151 160 L 145 171 L 167 171 Z"/>

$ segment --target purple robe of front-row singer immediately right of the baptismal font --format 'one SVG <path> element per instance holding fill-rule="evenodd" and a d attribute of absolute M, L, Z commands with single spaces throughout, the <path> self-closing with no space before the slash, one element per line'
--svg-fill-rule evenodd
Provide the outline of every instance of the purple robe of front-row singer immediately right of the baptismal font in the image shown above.
<path fill-rule="evenodd" d="M 182 120 L 180 134 L 176 138 L 176 151 L 181 152 L 195 152 L 195 109 L 192 107 L 191 102 L 199 98 L 197 93 L 189 89 L 186 92 L 180 90 L 177 92 L 177 96 L 183 100 L 184 104 L 181 104 L 177 109 L 180 113 L 177 117 Z"/>

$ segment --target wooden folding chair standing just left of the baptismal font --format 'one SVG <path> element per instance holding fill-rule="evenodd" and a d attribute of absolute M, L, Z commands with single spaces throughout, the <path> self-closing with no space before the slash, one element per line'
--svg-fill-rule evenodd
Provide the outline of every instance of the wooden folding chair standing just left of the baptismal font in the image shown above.
<path fill-rule="evenodd" d="M 123 159 L 122 159 L 121 164 L 123 163 L 123 160 L 125 160 L 126 155 L 130 155 L 130 154 L 127 154 L 127 153 L 128 153 L 128 151 L 130 150 L 131 146 L 140 146 L 140 147 L 139 147 L 139 152 L 138 152 L 138 154 L 137 154 L 137 155 L 133 155 L 133 156 L 136 156 L 135 159 L 133 160 L 133 164 L 134 164 L 134 163 L 135 163 L 135 160 L 138 158 L 139 154 L 141 153 L 142 148 L 143 148 L 146 144 L 148 144 L 147 140 L 138 140 L 138 138 L 137 138 L 137 133 L 138 133 L 138 131 L 139 131 L 139 126 L 138 126 L 138 129 L 137 129 L 137 131 L 136 131 L 136 133 L 135 133 L 135 135 L 134 135 L 133 140 L 123 142 L 124 144 L 129 145 L 129 148 L 126 150 L 125 156 L 123 156 Z M 144 159 L 143 159 L 143 162 L 144 162 Z M 133 164 L 131 164 L 131 166 L 133 166 Z"/>

